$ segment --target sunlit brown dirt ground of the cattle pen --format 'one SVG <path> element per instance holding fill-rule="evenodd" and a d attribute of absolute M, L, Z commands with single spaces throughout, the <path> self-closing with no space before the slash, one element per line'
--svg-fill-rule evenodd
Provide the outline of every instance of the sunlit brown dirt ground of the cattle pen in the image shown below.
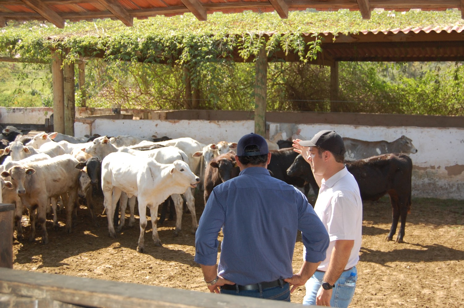
<path fill-rule="evenodd" d="M 200 217 L 203 198 L 198 193 L 195 197 Z M 127 226 L 126 220 L 122 233 L 111 239 L 106 216 L 102 214 L 103 200 L 96 201 L 100 227 L 92 225 L 84 207 L 79 210 L 78 224 L 71 234 L 66 234 L 63 227 L 54 231 L 50 220 L 48 245 L 42 245 L 40 237 L 33 243 L 13 241 L 13 268 L 208 291 L 200 266 L 193 262 L 190 214 L 182 218 L 179 237 L 173 237 L 174 221 L 158 227 L 163 247 L 153 245 L 148 223 L 146 253 L 142 254 L 135 250 L 138 217 L 135 227 Z M 391 207 L 386 197 L 365 203 L 363 216 L 359 280 L 350 307 L 464 307 L 464 201 L 413 199 L 402 244 L 385 241 L 391 224 Z M 65 214 L 58 219 L 64 221 Z M 23 220 L 26 226 L 26 216 Z M 26 226 L 26 239 L 29 230 Z M 295 271 L 302 264 L 302 252 L 299 238 L 293 261 Z M 300 287 L 291 301 L 301 303 L 303 295 L 304 287 Z"/>

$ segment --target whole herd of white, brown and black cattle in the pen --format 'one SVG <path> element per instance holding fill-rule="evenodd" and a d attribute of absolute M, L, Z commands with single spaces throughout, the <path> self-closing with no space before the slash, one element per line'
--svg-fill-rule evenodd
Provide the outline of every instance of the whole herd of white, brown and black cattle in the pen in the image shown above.
<path fill-rule="evenodd" d="M 37 220 L 43 233 L 42 241 L 48 243 L 46 214 L 50 209 L 53 211 L 53 225 L 58 227 L 60 199 L 67 213 L 65 230 L 68 233 L 79 204 L 88 207 L 95 226 L 99 226 L 93 210 L 95 189 L 103 193 L 108 231 L 113 238 L 124 226 L 128 204 L 129 226 L 134 225 L 135 201 L 138 201 L 140 237 L 137 251 L 144 251 L 147 207 L 155 245 L 161 245 L 157 232 L 158 207 L 169 201 L 174 203 L 176 213 L 174 236 L 181 231 L 184 200 L 192 216 L 194 233 L 198 220 L 192 189 L 204 190 L 206 203 L 215 186 L 238 176 L 234 152 L 237 143 L 220 141 L 205 145 L 188 137 L 154 137 L 94 135 L 75 138 L 57 132 L 23 136 L 13 126 L 7 126 L 0 135 L 0 181 L 3 203 L 16 205 L 17 239 L 23 237 L 21 220 L 27 210 L 31 224 L 29 241 L 36 238 Z M 393 142 L 352 138 L 344 138 L 344 142 L 346 166 L 359 184 L 362 200 L 375 201 L 385 194 L 390 196 L 393 214 L 387 240 L 393 240 L 401 217 L 396 241 L 402 242 L 411 206 L 412 161 L 406 154 L 416 153 L 417 149 L 405 136 Z M 317 196 L 319 188 L 309 164 L 293 151 L 291 141 L 268 143 L 269 148 L 274 149 L 268 166 L 271 175 L 304 189 L 306 194 L 311 186 Z M 118 207 L 119 221 L 115 220 Z"/>

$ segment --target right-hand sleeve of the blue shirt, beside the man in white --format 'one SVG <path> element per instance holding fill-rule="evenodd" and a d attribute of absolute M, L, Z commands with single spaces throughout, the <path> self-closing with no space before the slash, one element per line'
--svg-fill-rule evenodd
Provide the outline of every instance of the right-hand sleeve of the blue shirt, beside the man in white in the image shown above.
<path fill-rule="evenodd" d="M 298 206 L 298 230 L 302 233 L 303 245 L 306 248 L 303 259 L 317 263 L 326 258 L 330 242 L 329 233 L 306 198 L 303 199 L 299 201 Z"/>

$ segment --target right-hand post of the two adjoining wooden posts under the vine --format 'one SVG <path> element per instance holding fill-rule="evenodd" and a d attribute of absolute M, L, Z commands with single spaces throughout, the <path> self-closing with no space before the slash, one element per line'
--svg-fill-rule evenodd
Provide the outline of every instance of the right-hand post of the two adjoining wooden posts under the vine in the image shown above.
<path fill-rule="evenodd" d="M 64 133 L 74 136 L 76 118 L 76 98 L 74 89 L 74 62 L 63 65 L 64 77 Z"/>

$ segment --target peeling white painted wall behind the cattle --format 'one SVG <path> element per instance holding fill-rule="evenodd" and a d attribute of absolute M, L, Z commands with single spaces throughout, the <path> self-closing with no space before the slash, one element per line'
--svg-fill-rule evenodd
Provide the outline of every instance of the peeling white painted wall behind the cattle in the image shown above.
<path fill-rule="evenodd" d="M 0 107 L 0 123 L 43 123 L 44 111 L 26 114 L 25 111 L 5 113 Z M 5 114 L 8 119 L 5 119 Z M 19 116 L 19 118 L 14 118 Z M 20 119 L 20 117 L 22 118 Z M 11 117 L 11 118 L 10 118 Z M 204 144 L 218 141 L 238 141 L 254 131 L 252 120 L 208 121 L 208 120 L 113 120 L 95 119 L 87 123 L 75 123 L 76 137 L 98 133 L 100 135 L 136 135 L 170 138 L 191 137 Z M 412 195 L 439 199 L 464 200 L 464 128 L 427 127 L 384 127 L 327 124 L 269 123 L 270 138 L 282 133 L 290 138 L 299 131 L 303 138 L 312 138 L 322 129 L 333 129 L 343 137 L 367 141 L 393 141 L 406 135 L 418 149 L 411 154 L 414 165 L 412 173 Z"/>

